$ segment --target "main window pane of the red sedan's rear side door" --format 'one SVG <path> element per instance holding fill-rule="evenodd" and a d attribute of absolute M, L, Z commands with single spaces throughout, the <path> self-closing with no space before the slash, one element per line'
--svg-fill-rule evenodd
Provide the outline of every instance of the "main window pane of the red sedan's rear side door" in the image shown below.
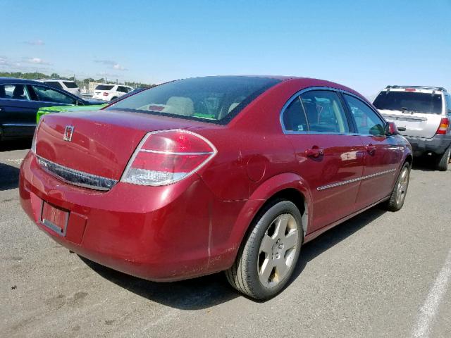
<path fill-rule="evenodd" d="M 350 132 L 345 111 L 338 94 L 312 90 L 300 96 L 311 132 Z"/>

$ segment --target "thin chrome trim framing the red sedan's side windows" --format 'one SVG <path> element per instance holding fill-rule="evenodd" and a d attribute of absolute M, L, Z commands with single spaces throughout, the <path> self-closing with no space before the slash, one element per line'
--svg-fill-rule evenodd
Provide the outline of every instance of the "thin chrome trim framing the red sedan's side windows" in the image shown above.
<path fill-rule="evenodd" d="M 357 96 L 356 94 L 352 94 L 351 92 L 347 92 L 347 90 L 344 89 L 338 89 L 338 88 L 333 88 L 333 87 L 321 87 L 321 86 L 315 86 L 315 87 L 307 87 L 304 89 L 299 90 L 298 92 L 296 92 L 295 94 L 293 94 L 290 99 L 288 99 L 287 102 L 285 102 L 285 104 L 283 105 L 282 109 L 280 110 L 280 115 L 279 115 L 279 122 L 280 122 L 280 126 L 282 127 L 282 131 L 283 134 L 329 134 L 329 135 L 347 135 L 347 136 L 370 136 L 370 137 L 387 137 L 386 135 L 372 135 L 372 134 L 359 134 L 358 132 L 312 132 L 312 131 L 295 131 L 295 130 L 286 130 L 285 129 L 285 125 L 283 123 L 283 113 L 285 113 L 285 110 L 288 108 L 288 106 L 290 106 L 290 104 L 292 103 L 292 101 L 295 101 L 295 99 L 299 96 L 302 95 L 306 92 L 311 92 L 312 90 L 324 90 L 324 91 L 328 91 L 328 92 L 335 92 L 335 93 L 340 93 L 340 94 L 347 94 L 350 96 L 354 96 L 356 99 L 359 99 L 360 101 L 364 102 L 362 100 L 362 98 L 360 98 L 359 96 Z M 343 99 L 345 99 L 343 97 Z M 340 100 L 340 103 L 342 104 L 342 108 L 348 108 L 343 106 L 343 104 L 347 105 L 347 102 L 343 103 L 341 102 L 342 100 Z M 364 102 L 364 104 L 366 104 L 366 102 Z M 366 104 L 366 106 L 368 106 L 368 104 Z M 371 106 L 369 106 L 369 108 L 371 108 Z M 387 121 L 385 120 L 385 118 L 383 118 L 383 116 L 378 112 L 375 111 L 373 108 L 371 108 L 372 111 L 374 111 L 376 113 L 376 115 L 378 115 L 379 118 L 382 119 L 383 122 L 385 122 L 385 124 L 387 123 Z M 348 115 L 346 115 L 346 118 L 348 118 Z M 352 117 L 354 118 L 354 117 Z M 347 121 L 348 123 L 350 123 L 351 121 Z M 307 123 L 309 123 L 309 121 L 307 120 Z M 384 125 L 385 127 L 385 125 Z"/>

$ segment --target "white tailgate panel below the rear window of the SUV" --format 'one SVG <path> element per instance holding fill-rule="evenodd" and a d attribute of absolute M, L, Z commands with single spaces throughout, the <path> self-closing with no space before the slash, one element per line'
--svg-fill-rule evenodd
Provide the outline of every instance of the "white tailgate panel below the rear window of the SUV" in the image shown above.
<path fill-rule="evenodd" d="M 437 132 L 442 115 L 433 113 L 416 113 L 412 111 L 379 110 L 385 120 L 396 123 L 397 127 L 406 128 L 400 134 L 407 137 L 431 138 Z"/>

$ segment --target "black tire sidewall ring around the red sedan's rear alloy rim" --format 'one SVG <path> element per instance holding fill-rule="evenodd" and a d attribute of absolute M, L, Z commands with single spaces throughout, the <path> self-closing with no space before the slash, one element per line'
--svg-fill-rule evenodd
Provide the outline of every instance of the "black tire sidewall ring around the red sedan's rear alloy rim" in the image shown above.
<path fill-rule="evenodd" d="M 261 241 L 268 230 L 268 227 L 273 223 L 279 215 L 284 213 L 290 213 L 296 220 L 298 225 L 299 237 L 297 243 L 297 252 L 295 258 L 290 267 L 290 271 L 285 276 L 285 278 L 279 282 L 275 287 L 264 287 L 259 280 L 258 270 L 257 270 L 257 262 L 259 258 L 259 249 Z M 247 239 L 247 244 L 245 246 L 245 250 L 247 250 L 247 261 L 246 261 L 246 270 L 249 274 L 249 282 L 252 284 L 252 289 L 254 290 L 254 294 L 258 296 L 259 299 L 268 299 L 272 296 L 275 296 L 280 292 L 280 290 L 285 287 L 287 282 L 290 280 L 290 277 L 295 270 L 295 266 L 297 264 L 297 260 L 299 258 L 299 253 L 301 251 L 302 240 L 304 237 L 304 232 L 302 228 L 302 216 L 299 212 L 299 209 L 290 201 L 277 201 L 269 208 L 266 208 L 266 211 L 261 214 L 259 218 L 257 218 L 257 223 L 254 225 L 254 229 L 252 230 L 251 235 Z"/>

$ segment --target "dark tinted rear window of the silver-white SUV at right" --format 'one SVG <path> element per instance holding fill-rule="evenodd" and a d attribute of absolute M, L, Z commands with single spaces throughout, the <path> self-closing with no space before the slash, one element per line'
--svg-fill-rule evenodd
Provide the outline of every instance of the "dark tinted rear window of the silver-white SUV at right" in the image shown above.
<path fill-rule="evenodd" d="M 442 113 L 442 94 L 418 92 L 381 92 L 373 105 L 390 111 L 414 111 L 418 113 Z"/>

